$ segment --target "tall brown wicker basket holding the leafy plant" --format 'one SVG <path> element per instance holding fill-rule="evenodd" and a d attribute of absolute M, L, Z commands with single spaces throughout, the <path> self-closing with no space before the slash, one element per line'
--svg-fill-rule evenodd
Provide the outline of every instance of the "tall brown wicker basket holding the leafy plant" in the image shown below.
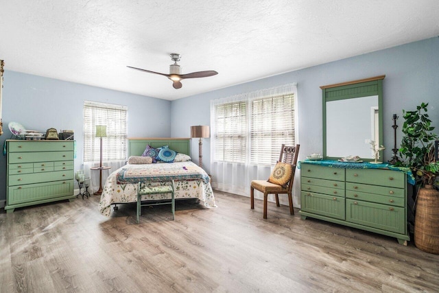
<path fill-rule="evenodd" d="M 439 254 L 439 191 L 425 185 L 418 193 L 414 244 L 427 253 Z"/>

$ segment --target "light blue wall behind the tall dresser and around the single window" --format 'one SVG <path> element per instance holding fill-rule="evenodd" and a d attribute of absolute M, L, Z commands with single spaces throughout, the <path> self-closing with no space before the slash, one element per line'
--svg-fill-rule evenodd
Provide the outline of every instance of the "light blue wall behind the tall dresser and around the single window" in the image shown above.
<path fill-rule="evenodd" d="M 11 137 L 10 121 L 30 130 L 74 130 L 75 170 L 82 169 L 84 100 L 128 106 L 128 137 L 171 135 L 170 101 L 5 70 L 0 144 Z M 5 156 L 0 156 L 0 174 L 1 201 L 6 198 Z"/>

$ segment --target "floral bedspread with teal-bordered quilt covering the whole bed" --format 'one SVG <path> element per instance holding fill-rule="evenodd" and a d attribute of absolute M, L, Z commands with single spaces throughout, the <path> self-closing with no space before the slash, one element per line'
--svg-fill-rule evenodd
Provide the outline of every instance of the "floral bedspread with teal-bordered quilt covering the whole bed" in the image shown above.
<path fill-rule="evenodd" d="M 150 169 L 150 174 L 147 174 Z M 173 174 L 172 170 L 177 170 Z M 195 172 L 197 171 L 198 172 Z M 195 173 L 198 175 L 195 176 Z M 141 178 L 143 174 L 143 178 Z M 159 176 L 159 174 L 161 174 Z M 148 180 L 146 180 L 148 178 Z M 176 198 L 198 198 L 204 207 L 217 207 L 209 176 L 204 170 L 192 162 L 159 163 L 147 165 L 125 165 L 108 176 L 104 191 L 99 202 L 102 215 L 110 216 L 111 204 L 137 202 L 137 183 L 139 180 L 147 186 L 170 185 L 170 180 L 176 180 Z M 171 198 L 171 194 L 152 194 L 143 196 L 142 200 L 163 200 Z"/>

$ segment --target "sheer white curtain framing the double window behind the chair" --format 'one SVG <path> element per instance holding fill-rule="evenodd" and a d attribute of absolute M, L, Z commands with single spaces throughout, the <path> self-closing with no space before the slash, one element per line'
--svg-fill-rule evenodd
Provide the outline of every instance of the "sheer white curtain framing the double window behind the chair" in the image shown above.
<path fill-rule="evenodd" d="M 250 183 L 252 180 L 267 180 L 274 167 L 275 161 L 272 162 L 273 165 L 252 165 L 250 164 L 250 139 L 249 129 L 250 121 L 247 119 L 247 129 L 246 135 L 246 160 L 245 163 L 229 163 L 226 161 L 215 160 L 215 106 L 218 104 L 226 104 L 231 102 L 248 101 L 251 102 L 253 99 L 259 99 L 262 97 L 269 97 L 274 95 L 285 95 L 289 93 L 294 93 L 294 109 L 297 109 L 297 88 L 296 83 L 285 84 L 283 86 L 273 87 L 271 89 L 263 89 L 260 91 L 254 91 L 251 93 L 244 93 L 241 95 L 234 95 L 231 97 L 226 97 L 223 99 L 215 99 L 211 101 L 211 174 L 212 174 L 212 187 L 220 191 L 226 191 L 233 194 L 239 194 L 241 196 L 250 196 Z M 247 107 L 247 117 L 250 117 L 250 106 Z M 297 111 L 294 111 L 294 132 L 295 132 L 295 143 L 298 143 L 297 135 Z M 280 152 L 280 148 L 279 148 Z M 298 173 L 298 172 L 296 172 Z M 296 180 L 296 179 L 295 179 Z M 294 184 L 297 186 L 297 184 Z M 296 188 L 294 188 L 296 189 Z M 300 190 L 300 189 L 298 189 Z M 296 193 L 298 194 L 298 193 Z M 262 198 L 261 194 L 255 192 L 256 198 Z M 300 197 L 300 196 L 299 196 Z M 269 198 L 269 200 L 274 200 Z M 297 204 L 297 199 L 294 200 Z M 285 203 L 285 200 L 282 200 Z M 287 201 L 286 201 L 287 202 Z"/>

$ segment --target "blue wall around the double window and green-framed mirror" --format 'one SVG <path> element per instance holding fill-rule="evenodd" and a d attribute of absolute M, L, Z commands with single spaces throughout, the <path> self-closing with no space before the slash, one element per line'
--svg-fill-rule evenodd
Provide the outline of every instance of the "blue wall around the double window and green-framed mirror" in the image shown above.
<path fill-rule="evenodd" d="M 293 56 L 294 58 L 294 56 Z M 221 72 L 219 73 L 221 74 Z M 375 51 L 324 65 L 230 86 L 171 104 L 171 134 L 190 135 L 192 125 L 210 125 L 210 101 L 230 95 L 297 82 L 299 159 L 322 153 L 322 90 L 320 86 L 385 75 L 383 80 L 384 160 L 392 157 L 392 114 L 399 115 L 396 134 L 401 141 L 402 110 L 414 110 L 420 102 L 429 102 L 429 115 L 439 134 L 439 38 Z M 192 157 L 198 159 L 197 141 L 192 141 Z M 210 172 L 210 139 L 203 142 L 203 167 Z"/>

